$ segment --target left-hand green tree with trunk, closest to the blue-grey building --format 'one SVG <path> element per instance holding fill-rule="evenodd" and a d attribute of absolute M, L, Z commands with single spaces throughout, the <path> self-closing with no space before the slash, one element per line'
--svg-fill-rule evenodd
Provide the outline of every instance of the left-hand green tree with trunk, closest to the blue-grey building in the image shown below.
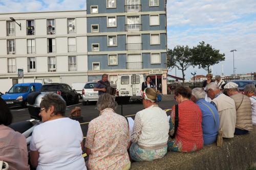
<path fill-rule="evenodd" d="M 187 45 L 177 45 L 174 47 L 174 50 L 168 49 L 167 55 L 167 67 L 174 68 L 176 66 L 178 69 L 182 71 L 182 78 L 184 79 L 184 71 L 191 65 L 191 49 Z"/>

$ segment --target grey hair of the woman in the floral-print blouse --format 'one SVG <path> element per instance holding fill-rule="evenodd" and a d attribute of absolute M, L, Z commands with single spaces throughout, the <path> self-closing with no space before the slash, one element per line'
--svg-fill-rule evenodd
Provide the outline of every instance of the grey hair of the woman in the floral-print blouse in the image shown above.
<path fill-rule="evenodd" d="M 115 110 L 116 107 L 117 107 L 117 103 L 114 99 L 114 96 L 112 96 L 108 93 L 99 95 L 99 99 L 97 102 L 97 108 L 99 111 L 104 110 L 106 108 L 111 108 L 111 109 Z"/>

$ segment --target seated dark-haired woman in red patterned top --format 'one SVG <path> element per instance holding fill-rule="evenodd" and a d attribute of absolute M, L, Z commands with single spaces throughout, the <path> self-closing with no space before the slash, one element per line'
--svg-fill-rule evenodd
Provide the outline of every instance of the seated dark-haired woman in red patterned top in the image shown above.
<path fill-rule="evenodd" d="M 168 140 L 168 150 L 176 152 L 194 152 L 203 148 L 202 112 L 190 101 L 191 89 L 179 86 L 174 91 L 178 102 L 178 128 L 174 139 Z M 169 120 L 169 134 L 174 134 L 175 106 Z"/>

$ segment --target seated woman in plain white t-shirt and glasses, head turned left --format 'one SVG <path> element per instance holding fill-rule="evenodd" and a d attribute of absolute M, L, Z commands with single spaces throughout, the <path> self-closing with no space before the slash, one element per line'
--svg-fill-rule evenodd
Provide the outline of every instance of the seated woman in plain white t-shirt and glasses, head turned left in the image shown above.
<path fill-rule="evenodd" d="M 30 142 L 30 161 L 36 169 L 86 170 L 82 157 L 83 134 L 79 122 L 65 117 L 66 103 L 49 93 L 40 103 L 42 124 L 35 127 Z"/>

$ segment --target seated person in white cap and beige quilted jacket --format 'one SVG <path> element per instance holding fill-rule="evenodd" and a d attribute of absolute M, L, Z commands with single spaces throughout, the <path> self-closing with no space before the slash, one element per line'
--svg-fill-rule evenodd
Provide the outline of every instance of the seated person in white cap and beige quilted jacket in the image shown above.
<path fill-rule="evenodd" d="M 224 86 L 227 94 L 234 100 L 237 111 L 235 135 L 243 135 L 252 131 L 251 101 L 248 96 L 238 92 L 238 84 L 229 82 Z"/>

